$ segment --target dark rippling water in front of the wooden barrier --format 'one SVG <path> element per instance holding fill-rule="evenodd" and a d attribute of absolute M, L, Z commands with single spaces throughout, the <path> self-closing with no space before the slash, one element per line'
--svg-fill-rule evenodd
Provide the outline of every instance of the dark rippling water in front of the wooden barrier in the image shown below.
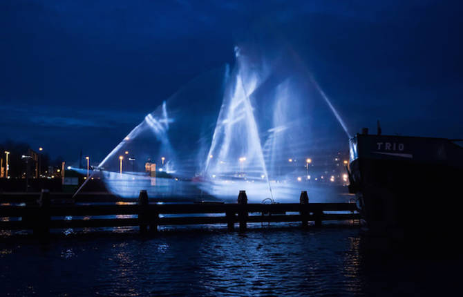
<path fill-rule="evenodd" d="M 446 295 L 460 258 L 376 253 L 357 229 L 185 228 L 161 236 L 19 238 L 0 243 L 12 296 Z"/>

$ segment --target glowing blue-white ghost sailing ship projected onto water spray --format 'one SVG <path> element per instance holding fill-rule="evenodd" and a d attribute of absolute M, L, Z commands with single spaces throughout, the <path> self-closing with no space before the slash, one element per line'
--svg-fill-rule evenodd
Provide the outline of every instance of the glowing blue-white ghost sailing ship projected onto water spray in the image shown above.
<path fill-rule="evenodd" d="M 339 124 L 349 134 L 339 113 L 292 61 L 249 52 L 236 47 L 233 70 L 193 80 L 144 117 L 97 166 L 108 191 L 236 200 L 245 190 L 251 202 L 294 202 L 302 190 L 326 202 L 344 191 L 345 170 L 332 157 Z"/>

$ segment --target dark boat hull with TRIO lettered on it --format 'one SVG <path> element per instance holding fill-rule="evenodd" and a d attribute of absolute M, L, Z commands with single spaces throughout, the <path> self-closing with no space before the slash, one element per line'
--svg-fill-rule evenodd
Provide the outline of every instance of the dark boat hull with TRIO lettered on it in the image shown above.
<path fill-rule="evenodd" d="M 350 191 L 369 234 L 415 238 L 460 229 L 461 146 L 437 138 L 356 135 L 350 155 Z"/>

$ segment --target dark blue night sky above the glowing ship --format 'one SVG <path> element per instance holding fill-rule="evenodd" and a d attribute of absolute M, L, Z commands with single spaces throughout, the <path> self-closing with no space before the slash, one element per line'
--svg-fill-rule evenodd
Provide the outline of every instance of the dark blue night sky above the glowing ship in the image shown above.
<path fill-rule="evenodd" d="M 252 3 L 251 3 L 252 2 Z M 0 3 L 0 142 L 102 159 L 241 40 L 286 44 L 350 131 L 463 138 L 459 1 Z"/>

